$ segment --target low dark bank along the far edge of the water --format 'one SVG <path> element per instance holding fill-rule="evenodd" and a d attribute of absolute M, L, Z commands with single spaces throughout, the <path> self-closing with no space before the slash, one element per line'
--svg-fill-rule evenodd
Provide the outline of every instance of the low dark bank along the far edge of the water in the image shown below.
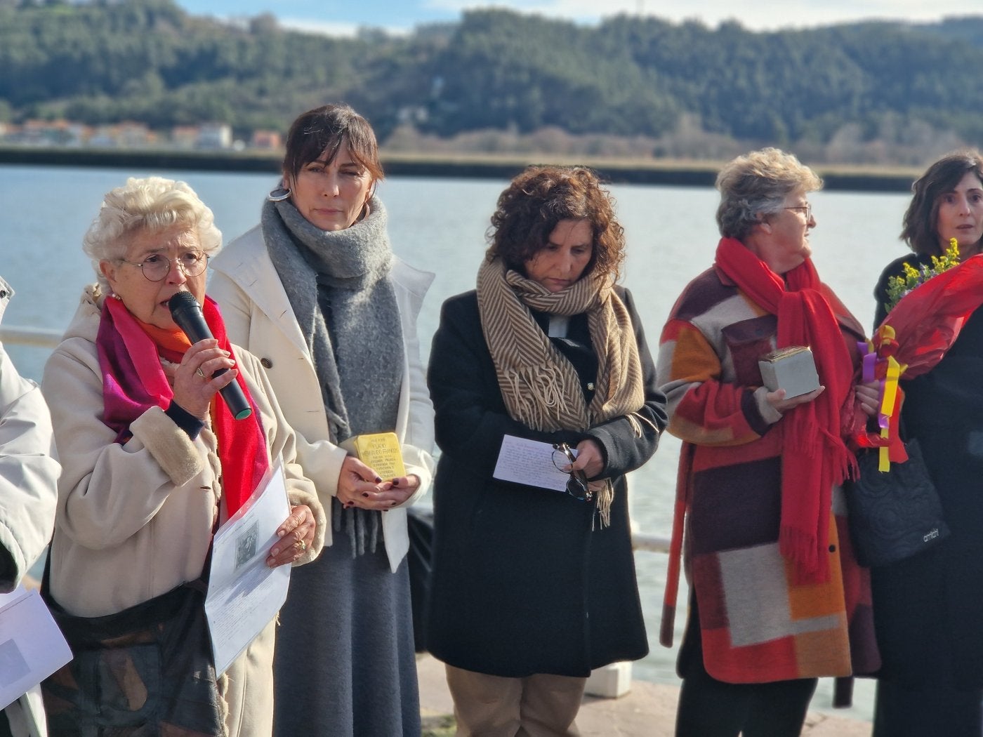
<path fill-rule="evenodd" d="M 575 158 L 546 153 L 427 154 L 380 151 L 391 177 L 509 180 L 529 164 L 582 164 L 611 184 L 713 187 L 723 162 Z M 279 173 L 278 152 L 0 146 L 0 164 L 111 169 Z M 816 165 L 826 190 L 910 192 L 919 170 L 904 167 Z"/>

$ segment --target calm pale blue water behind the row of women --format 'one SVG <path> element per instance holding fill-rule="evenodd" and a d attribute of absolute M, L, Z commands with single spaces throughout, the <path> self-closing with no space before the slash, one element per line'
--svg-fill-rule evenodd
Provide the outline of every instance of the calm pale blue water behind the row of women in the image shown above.
<path fill-rule="evenodd" d="M 0 166 L 0 275 L 17 293 L 5 324 L 57 329 L 68 324 L 83 287 L 93 280 L 81 243 L 102 195 L 123 184 L 127 176 L 149 174 L 187 181 L 214 211 L 226 242 L 258 222 L 262 198 L 275 184 L 273 177 L 254 174 Z M 394 178 L 379 188 L 389 211 L 389 235 L 396 253 L 436 273 L 420 316 L 425 360 L 442 301 L 474 287 L 489 216 L 506 184 L 504 180 Z M 633 185 L 612 186 L 610 191 L 628 239 L 623 283 L 634 294 L 655 352 L 675 298 L 713 259 L 718 241 L 717 193 Z M 874 313 L 871 290 L 881 269 L 904 253 L 896 236 L 908 198 L 820 192 L 811 199 L 818 222 L 811 236 L 816 266 L 867 325 Z M 23 346 L 8 350 L 25 374 L 40 377 L 46 351 Z M 647 534 L 668 535 L 678 449 L 678 441 L 666 435 L 653 460 L 633 474 L 632 515 Z M 635 664 L 634 675 L 676 683 L 675 652 L 658 643 L 665 555 L 639 552 L 636 561 L 652 653 Z M 685 596 L 681 591 L 677 643 Z M 872 693 L 869 682 L 859 681 L 856 706 L 838 713 L 870 718 Z M 829 709 L 831 695 L 832 682 L 826 679 L 813 708 Z"/>

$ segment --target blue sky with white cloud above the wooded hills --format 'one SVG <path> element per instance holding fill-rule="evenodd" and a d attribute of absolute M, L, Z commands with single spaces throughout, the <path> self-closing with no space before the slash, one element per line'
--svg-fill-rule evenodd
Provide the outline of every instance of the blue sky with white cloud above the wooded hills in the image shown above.
<path fill-rule="evenodd" d="M 806 28 L 883 18 L 938 21 L 947 16 L 983 15 L 983 0 L 177 0 L 189 13 L 243 18 L 272 13 L 290 28 L 347 35 L 360 26 L 410 30 L 456 21 L 467 8 L 491 5 L 580 23 L 603 15 L 643 13 L 669 21 L 699 19 L 708 26 L 737 18 L 753 29 Z"/>

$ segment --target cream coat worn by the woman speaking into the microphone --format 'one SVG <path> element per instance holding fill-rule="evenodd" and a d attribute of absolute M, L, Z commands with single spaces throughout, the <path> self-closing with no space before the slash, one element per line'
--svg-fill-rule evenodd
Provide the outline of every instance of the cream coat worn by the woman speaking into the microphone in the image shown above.
<path fill-rule="evenodd" d="M 95 345 L 100 305 L 89 288 L 42 380 L 62 462 L 51 595 L 82 616 L 117 612 L 197 579 L 222 493 L 209 426 L 192 440 L 153 407 L 131 425 L 133 437 L 120 445 L 116 432 L 99 419 L 104 407 Z M 315 544 L 295 565 L 308 562 L 317 557 L 326 528 L 314 483 L 297 463 L 294 432 L 260 362 L 240 348 L 233 351 L 260 411 L 269 458 L 283 460 L 291 503 L 307 504 L 318 520 Z M 230 735 L 271 732 L 273 639 L 271 622 L 226 671 Z"/>

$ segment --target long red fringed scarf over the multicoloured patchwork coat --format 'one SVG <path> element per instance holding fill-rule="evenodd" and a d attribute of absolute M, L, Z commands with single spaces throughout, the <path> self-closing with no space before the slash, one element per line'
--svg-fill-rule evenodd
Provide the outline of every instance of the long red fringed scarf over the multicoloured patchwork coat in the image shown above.
<path fill-rule="evenodd" d="M 779 318 L 778 348 L 809 346 L 826 390 L 784 413 L 781 422 L 779 549 L 801 583 L 829 579 L 833 486 L 855 466 L 840 438 L 840 411 L 853 395 L 853 364 L 837 317 L 810 259 L 781 276 L 740 241 L 724 238 L 717 264 L 756 305 Z M 774 431 L 774 430 L 773 430 Z"/>

